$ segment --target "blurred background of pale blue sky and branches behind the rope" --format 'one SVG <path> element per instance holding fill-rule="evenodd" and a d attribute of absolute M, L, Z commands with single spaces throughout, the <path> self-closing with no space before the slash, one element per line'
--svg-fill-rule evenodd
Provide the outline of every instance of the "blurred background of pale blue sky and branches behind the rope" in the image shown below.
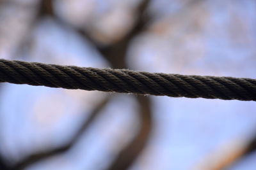
<path fill-rule="evenodd" d="M 1 0 L 0 58 L 256 78 L 254 0 Z M 254 170 L 252 101 L 0 85 L 0 169 Z"/>

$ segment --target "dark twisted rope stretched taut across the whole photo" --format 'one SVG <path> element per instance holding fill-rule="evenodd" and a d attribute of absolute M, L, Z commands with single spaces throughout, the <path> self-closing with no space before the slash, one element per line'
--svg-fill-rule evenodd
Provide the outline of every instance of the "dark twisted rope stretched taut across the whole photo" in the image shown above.
<path fill-rule="evenodd" d="M 256 101 L 256 80 L 0 59 L 0 82 L 171 97 Z"/>

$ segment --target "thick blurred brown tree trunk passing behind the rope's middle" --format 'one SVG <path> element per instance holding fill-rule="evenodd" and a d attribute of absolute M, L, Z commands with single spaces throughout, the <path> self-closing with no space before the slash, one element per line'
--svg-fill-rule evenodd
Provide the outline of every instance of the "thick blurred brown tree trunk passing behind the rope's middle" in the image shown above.
<path fill-rule="evenodd" d="M 108 46 L 107 48 L 99 49 L 99 52 L 109 60 L 113 68 L 127 68 L 125 63 L 127 48 L 129 47 L 132 38 L 140 34 L 147 24 L 148 18 L 145 18 L 145 11 L 147 10 L 149 3 L 149 0 L 141 1 L 140 5 L 138 6 L 138 18 L 136 20 L 136 24 L 123 39 L 111 46 Z M 123 148 L 118 154 L 116 160 L 112 162 L 111 166 L 109 167 L 111 170 L 128 169 L 131 167 L 134 160 L 136 160 L 138 155 L 140 155 L 142 150 L 145 148 L 145 145 L 149 139 L 152 129 L 150 98 L 137 96 L 136 99 L 140 104 L 140 129 L 131 143 Z"/>

